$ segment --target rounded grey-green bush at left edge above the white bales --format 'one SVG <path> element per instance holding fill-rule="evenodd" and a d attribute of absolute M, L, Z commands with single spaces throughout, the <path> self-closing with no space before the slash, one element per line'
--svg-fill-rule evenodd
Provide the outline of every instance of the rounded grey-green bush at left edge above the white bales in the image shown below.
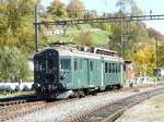
<path fill-rule="evenodd" d="M 25 80 L 28 76 L 27 60 L 15 47 L 0 48 L 0 78 L 3 81 Z"/>

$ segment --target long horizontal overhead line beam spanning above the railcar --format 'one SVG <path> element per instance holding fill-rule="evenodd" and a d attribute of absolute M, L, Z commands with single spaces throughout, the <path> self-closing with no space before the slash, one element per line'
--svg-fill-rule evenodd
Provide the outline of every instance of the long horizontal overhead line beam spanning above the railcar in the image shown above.
<path fill-rule="evenodd" d="M 75 20 L 65 20 L 55 22 L 39 22 L 46 25 L 71 25 L 71 24 L 87 24 L 87 23 L 108 23 L 108 22 L 129 22 L 129 21 L 153 21 L 153 20 L 164 20 L 164 14 L 159 15 L 130 15 L 130 16 L 113 16 L 113 17 L 97 17 L 97 19 L 75 19 Z"/>

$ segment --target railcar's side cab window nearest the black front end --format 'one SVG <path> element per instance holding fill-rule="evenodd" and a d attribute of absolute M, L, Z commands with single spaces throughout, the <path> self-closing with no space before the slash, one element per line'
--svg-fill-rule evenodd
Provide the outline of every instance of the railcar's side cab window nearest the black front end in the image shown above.
<path fill-rule="evenodd" d="M 70 59 L 60 59 L 60 68 L 61 70 L 70 70 L 71 66 L 71 60 Z"/>

